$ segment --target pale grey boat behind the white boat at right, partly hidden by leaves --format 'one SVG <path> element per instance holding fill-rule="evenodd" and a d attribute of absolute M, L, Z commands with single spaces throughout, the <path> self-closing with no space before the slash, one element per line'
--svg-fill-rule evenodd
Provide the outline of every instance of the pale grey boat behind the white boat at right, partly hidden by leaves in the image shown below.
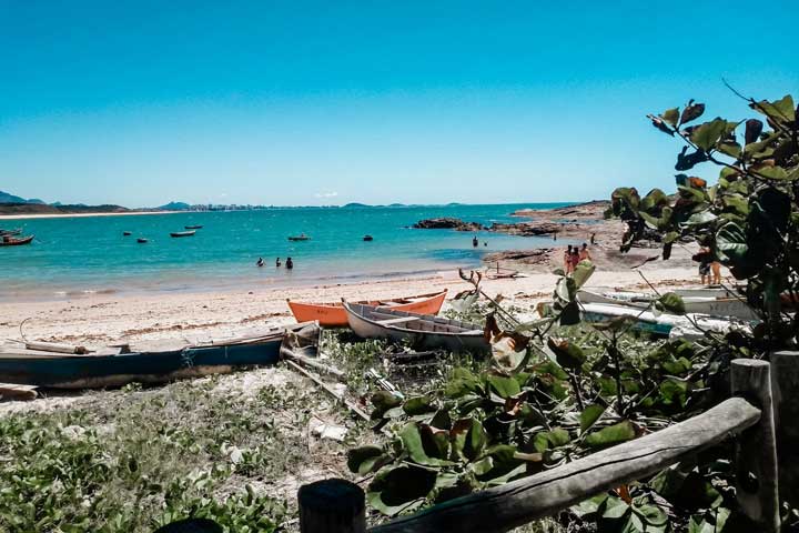
<path fill-rule="evenodd" d="M 684 294 L 686 294 L 686 292 L 684 292 Z M 636 309 L 647 309 L 653 301 L 657 300 L 656 294 L 640 292 L 598 293 L 585 290 L 579 291 L 577 293 L 577 298 L 583 303 L 608 303 L 613 305 L 629 305 Z M 757 313 L 739 298 L 695 295 L 682 295 L 681 298 L 685 303 L 686 313 L 708 314 L 711 316 L 732 316 L 746 321 L 759 320 Z"/>

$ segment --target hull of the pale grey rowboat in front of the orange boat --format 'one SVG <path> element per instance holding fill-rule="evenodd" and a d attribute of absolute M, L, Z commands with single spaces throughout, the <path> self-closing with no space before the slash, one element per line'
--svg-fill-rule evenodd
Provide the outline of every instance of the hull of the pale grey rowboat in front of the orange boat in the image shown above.
<path fill-rule="evenodd" d="M 418 313 L 408 313 L 385 308 L 371 308 L 384 312 L 386 315 L 402 318 L 418 318 L 424 321 L 429 331 L 409 330 L 403 326 L 383 325 L 360 314 L 361 309 L 368 308 L 363 304 L 346 304 L 347 321 L 353 332 L 362 339 L 385 339 L 393 342 L 409 343 L 414 350 L 446 350 L 449 352 L 486 353 L 490 344 L 485 339 L 482 329 L 475 324 L 467 324 L 457 320 L 427 316 Z M 464 332 L 452 333 L 447 331 L 453 325 L 462 328 Z"/>

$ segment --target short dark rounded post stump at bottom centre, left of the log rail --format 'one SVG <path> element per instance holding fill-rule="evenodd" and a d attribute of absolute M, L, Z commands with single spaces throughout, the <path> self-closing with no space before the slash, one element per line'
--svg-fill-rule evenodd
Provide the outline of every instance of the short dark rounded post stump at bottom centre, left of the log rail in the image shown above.
<path fill-rule="evenodd" d="M 322 480 L 297 492 L 302 533 L 365 533 L 363 490 L 346 480 Z"/>

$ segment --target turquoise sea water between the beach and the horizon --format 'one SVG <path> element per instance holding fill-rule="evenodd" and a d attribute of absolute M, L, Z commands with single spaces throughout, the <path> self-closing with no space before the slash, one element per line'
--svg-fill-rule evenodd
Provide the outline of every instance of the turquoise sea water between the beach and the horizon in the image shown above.
<path fill-rule="evenodd" d="M 59 299 L 80 294 L 259 289 L 344 283 L 475 268 L 488 252 L 550 247 L 545 238 L 483 232 L 414 230 L 422 219 L 512 222 L 519 209 L 566 203 L 431 205 L 390 208 L 296 208 L 259 211 L 183 212 L 131 217 L 0 220 L 0 227 L 36 234 L 31 245 L 0 248 L 0 300 Z M 203 225 L 194 237 L 170 232 Z M 132 232 L 123 237 L 124 231 Z M 291 242 L 305 233 L 310 241 Z M 374 241 L 364 242 L 371 234 Z M 146 244 L 136 238 L 146 238 Z M 487 245 L 484 245 L 484 242 Z M 275 258 L 294 270 L 275 268 Z M 256 268 L 263 258 L 265 265 Z"/>

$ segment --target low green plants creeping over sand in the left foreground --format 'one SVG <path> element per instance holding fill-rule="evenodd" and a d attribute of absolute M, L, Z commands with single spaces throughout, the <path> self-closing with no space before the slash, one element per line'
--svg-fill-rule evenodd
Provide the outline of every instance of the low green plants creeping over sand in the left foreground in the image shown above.
<path fill-rule="evenodd" d="M 0 418 L 0 531 L 152 532 L 189 516 L 275 531 L 293 514 L 275 486 L 307 465 L 303 429 L 331 409 L 296 381 L 129 388 Z"/>

